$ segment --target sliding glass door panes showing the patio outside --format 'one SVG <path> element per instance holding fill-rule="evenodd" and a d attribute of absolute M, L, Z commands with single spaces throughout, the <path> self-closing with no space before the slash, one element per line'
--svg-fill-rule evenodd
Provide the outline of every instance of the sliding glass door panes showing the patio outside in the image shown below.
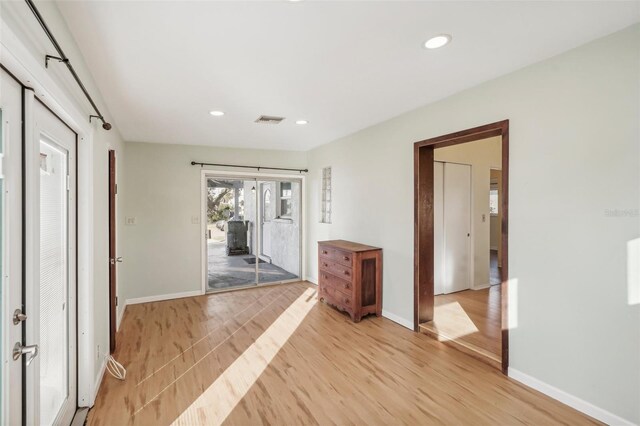
<path fill-rule="evenodd" d="M 205 291 L 300 280 L 302 181 L 203 175 Z"/>

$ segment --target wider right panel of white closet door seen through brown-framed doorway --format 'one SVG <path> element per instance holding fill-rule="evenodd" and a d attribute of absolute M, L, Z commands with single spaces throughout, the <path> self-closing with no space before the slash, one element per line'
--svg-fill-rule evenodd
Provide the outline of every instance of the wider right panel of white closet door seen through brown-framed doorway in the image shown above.
<path fill-rule="evenodd" d="M 471 287 L 471 166 L 444 164 L 444 293 Z"/>

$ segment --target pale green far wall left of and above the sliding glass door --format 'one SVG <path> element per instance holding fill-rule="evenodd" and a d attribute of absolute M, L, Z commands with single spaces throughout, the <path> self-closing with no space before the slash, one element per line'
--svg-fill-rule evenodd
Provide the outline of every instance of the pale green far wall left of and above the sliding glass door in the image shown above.
<path fill-rule="evenodd" d="M 307 154 L 128 142 L 125 217 L 137 222 L 125 226 L 122 242 L 128 300 L 202 288 L 202 169 L 191 161 L 304 168 Z"/>

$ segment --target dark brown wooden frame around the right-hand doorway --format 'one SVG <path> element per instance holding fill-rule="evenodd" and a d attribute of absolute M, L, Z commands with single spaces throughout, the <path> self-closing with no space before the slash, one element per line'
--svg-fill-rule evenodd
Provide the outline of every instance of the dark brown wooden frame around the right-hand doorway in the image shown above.
<path fill-rule="evenodd" d="M 509 120 L 498 121 L 448 135 L 416 142 L 414 158 L 414 321 L 415 331 L 420 324 L 433 321 L 434 311 L 434 218 L 433 218 L 433 150 L 445 146 L 474 142 L 495 136 L 502 137 L 502 372 L 509 367 L 509 322 L 507 312 L 509 278 Z"/>

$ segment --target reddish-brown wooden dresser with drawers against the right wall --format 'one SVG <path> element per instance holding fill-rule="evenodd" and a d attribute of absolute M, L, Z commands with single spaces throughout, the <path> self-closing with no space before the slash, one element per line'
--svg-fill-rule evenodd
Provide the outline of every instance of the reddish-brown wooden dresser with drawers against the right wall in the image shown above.
<path fill-rule="evenodd" d="M 318 299 L 359 322 L 382 314 L 382 249 L 344 240 L 318 242 Z"/>

